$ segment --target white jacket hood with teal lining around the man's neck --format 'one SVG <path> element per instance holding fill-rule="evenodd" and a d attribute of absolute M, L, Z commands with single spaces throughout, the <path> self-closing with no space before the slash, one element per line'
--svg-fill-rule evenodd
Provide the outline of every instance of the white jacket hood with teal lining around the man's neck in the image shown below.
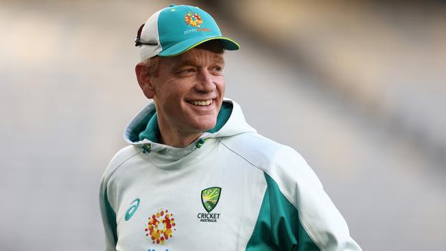
<path fill-rule="evenodd" d="M 150 151 L 165 149 L 186 149 L 200 148 L 207 139 L 216 139 L 233 136 L 244 132 L 256 132 L 244 118 L 242 109 L 235 101 L 224 98 L 222 108 L 218 114 L 215 127 L 207 132 L 203 132 L 200 137 L 184 148 L 171 147 L 157 142 L 159 138 L 159 128 L 156 119 L 156 108 L 154 102 L 150 102 L 141 112 L 139 112 L 127 125 L 124 130 L 124 139 L 131 145 L 139 145 L 143 150 L 147 145 Z"/>

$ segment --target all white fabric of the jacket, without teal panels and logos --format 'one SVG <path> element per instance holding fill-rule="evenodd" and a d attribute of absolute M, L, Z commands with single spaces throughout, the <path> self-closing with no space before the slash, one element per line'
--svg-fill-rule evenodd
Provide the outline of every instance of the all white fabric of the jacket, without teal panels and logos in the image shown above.
<path fill-rule="evenodd" d="M 259 216 L 267 189 L 264 173 L 299 212 L 301 224 L 323 251 L 361 250 L 349 236 L 344 219 L 322 190 L 305 160 L 289 147 L 260 136 L 245 121 L 241 108 L 233 104 L 223 128 L 203 133 L 202 147 L 195 143 L 176 148 L 148 140 L 131 142 L 130 132 L 154 109 L 149 104 L 124 132 L 132 144 L 110 161 L 101 183 L 100 204 L 106 228 L 107 250 L 245 250 Z M 150 143 L 152 152 L 141 145 Z M 207 213 L 201 191 L 221 187 L 221 196 L 211 213 L 216 222 L 200 222 Z M 108 221 L 105 192 L 116 214 L 117 245 Z M 125 219 L 130 204 L 139 198 L 139 208 Z M 145 228 L 160 208 L 174 213 L 176 230 L 165 245 L 152 243 Z"/>

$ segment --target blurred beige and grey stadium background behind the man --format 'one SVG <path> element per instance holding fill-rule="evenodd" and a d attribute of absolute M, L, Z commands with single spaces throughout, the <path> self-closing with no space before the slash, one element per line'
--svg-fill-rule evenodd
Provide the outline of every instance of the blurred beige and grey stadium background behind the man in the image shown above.
<path fill-rule="evenodd" d="M 137 29 L 170 1 L 0 1 L 0 250 L 104 250 L 99 180 L 148 103 Z M 226 96 L 316 171 L 364 250 L 446 246 L 446 4 L 176 1 L 241 49 Z"/>

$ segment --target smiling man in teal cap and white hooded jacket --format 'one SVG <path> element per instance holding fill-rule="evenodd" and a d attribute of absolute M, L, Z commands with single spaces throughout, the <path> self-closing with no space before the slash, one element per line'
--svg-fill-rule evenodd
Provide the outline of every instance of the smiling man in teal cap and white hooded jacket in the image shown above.
<path fill-rule="evenodd" d="M 224 49 L 239 45 L 207 12 L 171 5 L 135 42 L 154 102 L 102 178 L 107 250 L 360 250 L 305 160 L 224 98 Z"/>

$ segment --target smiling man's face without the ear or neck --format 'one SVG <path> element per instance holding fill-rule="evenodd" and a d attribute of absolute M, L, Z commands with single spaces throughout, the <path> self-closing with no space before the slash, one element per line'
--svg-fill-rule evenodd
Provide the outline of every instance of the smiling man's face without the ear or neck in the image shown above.
<path fill-rule="evenodd" d="M 180 135 L 215 126 L 224 96 L 224 55 L 193 48 L 179 56 L 160 58 L 150 77 L 160 126 Z"/>

